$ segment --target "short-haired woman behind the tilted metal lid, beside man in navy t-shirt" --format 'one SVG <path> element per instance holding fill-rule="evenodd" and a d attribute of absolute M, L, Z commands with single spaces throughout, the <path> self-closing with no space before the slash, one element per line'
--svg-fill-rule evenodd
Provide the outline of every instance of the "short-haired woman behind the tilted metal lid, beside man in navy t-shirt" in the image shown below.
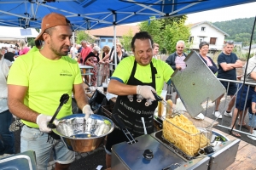
<path fill-rule="evenodd" d="M 199 55 L 201 56 L 201 59 L 207 64 L 209 69 L 212 71 L 213 74 L 215 74 L 218 71 L 217 65 L 212 61 L 211 57 L 208 57 L 208 51 L 209 51 L 209 44 L 207 42 L 200 42 L 199 44 Z"/>

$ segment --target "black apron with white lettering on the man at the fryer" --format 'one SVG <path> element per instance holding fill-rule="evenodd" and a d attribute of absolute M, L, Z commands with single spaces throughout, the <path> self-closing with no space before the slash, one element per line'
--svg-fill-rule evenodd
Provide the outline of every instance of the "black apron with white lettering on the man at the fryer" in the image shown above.
<path fill-rule="evenodd" d="M 137 62 L 134 61 L 134 65 L 131 71 L 131 76 L 127 82 L 127 85 L 148 85 L 155 88 L 155 74 L 156 69 L 152 62 L 150 62 L 152 82 L 144 83 L 134 77 Z M 144 134 L 143 122 L 141 117 L 144 117 L 147 133 L 154 132 L 154 110 L 158 105 L 158 102 L 154 100 L 151 105 L 146 106 L 147 99 L 143 99 L 141 102 L 137 102 L 137 94 L 133 95 L 133 101 L 128 99 L 128 96 L 118 96 L 113 108 L 113 113 L 117 113 L 121 120 L 125 123 L 125 127 L 134 135 L 134 137 Z"/>

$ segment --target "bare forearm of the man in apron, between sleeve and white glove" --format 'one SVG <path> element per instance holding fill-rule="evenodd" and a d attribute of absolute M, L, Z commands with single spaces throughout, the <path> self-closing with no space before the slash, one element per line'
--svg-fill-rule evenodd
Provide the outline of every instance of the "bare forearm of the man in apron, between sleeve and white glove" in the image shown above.
<path fill-rule="evenodd" d="M 110 80 L 108 84 L 108 92 L 117 95 L 137 94 L 137 86 L 127 85 L 117 80 Z"/>

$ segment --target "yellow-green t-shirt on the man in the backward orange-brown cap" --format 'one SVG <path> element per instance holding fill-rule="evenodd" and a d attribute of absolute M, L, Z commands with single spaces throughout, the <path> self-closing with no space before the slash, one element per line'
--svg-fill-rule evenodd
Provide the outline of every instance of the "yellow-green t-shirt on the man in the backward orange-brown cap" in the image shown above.
<path fill-rule="evenodd" d="M 8 84 L 28 87 L 24 104 L 44 115 L 53 116 L 60 105 L 61 95 L 68 94 L 70 99 L 61 107 L 57 119 L 72 114 L 73 84 L 79 83 L 82 83 L 82 79 L 78 62 L 68 56 L 47 59 L 39 51 L 18 57 L 8 77 Z M 30 127 L 38 127 L 33 122 L 22 122 Z"/>

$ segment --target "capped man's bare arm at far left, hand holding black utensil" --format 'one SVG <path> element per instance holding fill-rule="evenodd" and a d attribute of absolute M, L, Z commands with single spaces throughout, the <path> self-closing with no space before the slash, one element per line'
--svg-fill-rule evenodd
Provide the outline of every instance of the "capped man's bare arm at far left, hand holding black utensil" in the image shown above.
<path fill-rule="evenodd" d="M 24 105 L 27 87 L 8 85 L 9 111 L 20 119 L 28 122 L 37 122 L 38 113 Z"/>

